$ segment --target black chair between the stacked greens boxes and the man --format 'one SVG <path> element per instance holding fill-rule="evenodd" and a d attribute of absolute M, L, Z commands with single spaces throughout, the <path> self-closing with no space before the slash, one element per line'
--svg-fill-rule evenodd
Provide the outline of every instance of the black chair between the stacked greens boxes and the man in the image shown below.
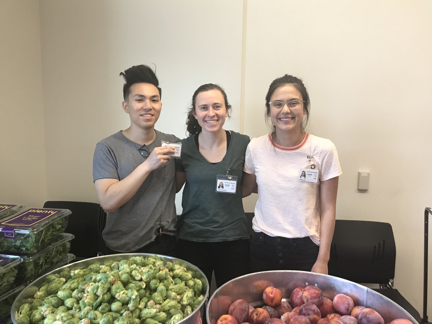
<path fill-rule="evenodd" d="M 105 228 L 106 213 L 98 203 L 81 201 L 47 201 L 44 208 L 69 209 L 67 233 L 75 235 L 70 242 L 70 253 L 75 260 L 106 254 L 102 230 Z"/>

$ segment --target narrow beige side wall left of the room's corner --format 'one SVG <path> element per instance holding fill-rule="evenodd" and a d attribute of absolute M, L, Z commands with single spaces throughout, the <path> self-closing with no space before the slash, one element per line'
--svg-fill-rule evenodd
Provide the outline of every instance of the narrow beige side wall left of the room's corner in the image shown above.
<path fill-rule="evenodd" d="M 0 1 L 0 203 L 46 199 L 39 4 Z"/>

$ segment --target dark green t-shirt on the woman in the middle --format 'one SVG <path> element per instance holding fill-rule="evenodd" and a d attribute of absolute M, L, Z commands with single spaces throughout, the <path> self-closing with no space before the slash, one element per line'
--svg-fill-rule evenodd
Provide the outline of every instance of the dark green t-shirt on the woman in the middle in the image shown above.
<path fill-rule="evenodd" d="M 181 159 L 176 160 L 176 171 L 186 172 L 178 218 L 178 238 L 197 242 L 233 241 L 249 238 L 246 216 L 241 201 L 241 177 L 245 153 L 251 141 L 247 135 L 231 131 L 231 141 L 221 162 L 212 164 L 197 149 L 194 137 L 181 140 Z M 235 194 L 216 192 L 216 176 L 237 176 Z"/>

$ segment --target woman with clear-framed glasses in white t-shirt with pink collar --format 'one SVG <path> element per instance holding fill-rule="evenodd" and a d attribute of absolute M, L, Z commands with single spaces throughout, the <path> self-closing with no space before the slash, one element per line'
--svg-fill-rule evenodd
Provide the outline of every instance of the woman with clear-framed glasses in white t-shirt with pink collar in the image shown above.
<path fill-rule="evenodd" d="M 273 80 L 266 95 L 272 132 L 246 151 L 242 193 L 258 193 L 251 271 L 328 273 L 342 174 L 330 140 L 305 132 L 309 95 L 301 79 Z"/>

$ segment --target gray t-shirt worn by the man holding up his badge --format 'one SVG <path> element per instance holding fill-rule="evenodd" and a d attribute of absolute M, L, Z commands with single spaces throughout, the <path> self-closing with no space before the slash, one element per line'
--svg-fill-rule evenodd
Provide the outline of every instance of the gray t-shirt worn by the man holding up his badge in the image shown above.
<path fill-rule="evenodd" d="M 155 131 L 156 139 L 147 145 L 150 153 L 161 146 L 161 140 L 180 141 L 174 135 Z M 121 131 L 101 140 L 93 155 L 93 182 L 104 178 L 126 178 L 144 162 L 140 147 L 124 137 Z M 152 171 L 127 203 L 109 213 L 102 232 L 108 248 L 131 252 L 147 245 L 154 241 L 159 222 L 164 234 L 176 234 L 174 174 L 175 162 L 171 159 L 165 166 Z"/>

